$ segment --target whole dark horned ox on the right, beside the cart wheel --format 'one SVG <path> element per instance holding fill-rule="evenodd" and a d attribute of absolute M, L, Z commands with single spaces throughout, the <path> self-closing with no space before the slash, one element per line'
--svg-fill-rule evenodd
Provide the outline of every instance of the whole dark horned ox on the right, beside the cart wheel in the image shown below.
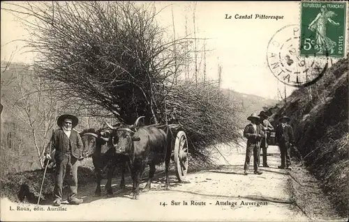
<path fill-rule="evenodd" d="M 144 116 L 140 118 L 144 118 Z M 135 125 L 137 125 L 138 120 L 136 120 Z M 165 161 L 166 173 L 165 189 L 168 190 L 170 186 L 168 173 L 172 152 L 172 132 L 169 127 L 165 127 L 165 129 L 158 129 L 154 126 L 139 127 L 138 129 L 135 127 L 111 127 L 111 129 L 116 131 L 113 141 L 115 153 L 124 154 L 131 164 L 132 198 L 139 198 L 140 177 L 144 168 L 149 165 L 149 178 L 142 190 L 147 192 L 151 188 L 155 166 L 163 161 Z"/>

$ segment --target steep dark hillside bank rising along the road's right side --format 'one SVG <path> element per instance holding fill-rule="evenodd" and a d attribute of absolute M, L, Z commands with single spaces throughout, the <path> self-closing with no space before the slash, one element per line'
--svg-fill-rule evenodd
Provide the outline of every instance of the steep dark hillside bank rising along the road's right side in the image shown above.
<path fill-rule="evenodd" d="M 295 90 L 269 109 L 290 116 L 304 162 L 339 213 L 348 215 L 348 58 L 335 63 L 308 88 Z"/>

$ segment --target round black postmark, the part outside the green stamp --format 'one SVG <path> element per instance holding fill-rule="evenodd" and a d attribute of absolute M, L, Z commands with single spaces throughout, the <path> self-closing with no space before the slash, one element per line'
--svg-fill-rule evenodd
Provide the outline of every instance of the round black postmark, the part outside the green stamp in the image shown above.
<path fill-rule="evenodd" d="M 276 31 L 267 47 L 267 63 L 274 77 L 298 88 L 315 84 L 328 67 L 328 57 L 300 56 L 299 25 Z"/>

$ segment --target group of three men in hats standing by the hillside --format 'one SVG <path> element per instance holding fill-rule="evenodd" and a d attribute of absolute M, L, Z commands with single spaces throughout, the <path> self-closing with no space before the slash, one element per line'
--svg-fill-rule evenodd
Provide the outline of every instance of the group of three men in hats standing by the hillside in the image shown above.
<path fill-rule="evenodd" d="M 247 138 L 246 158 L 244 164 L 244 175 L 248 175 L 248 168 L 253 154 L 253 173 L 260 175 L 260 150 L 262 150 L 263 167 L 269 167 L 267 164 L 267 138 L 271 132 L 275 132 L 276 144 L 279 145 L 281 153 L 281 166 L 278 168 L 292 170 L 290 148 L 295 144 L 292 126 L 289 124 L 290 118 L 283 116 L 279 120 L 279 124 L 275 129 L 267 120 L 268 116 L 265 111 L 260 111 L 260 114 L 252 113 L 247 120 L 251 123 L 246 125 L 244 129 L 244 137 Z"/>

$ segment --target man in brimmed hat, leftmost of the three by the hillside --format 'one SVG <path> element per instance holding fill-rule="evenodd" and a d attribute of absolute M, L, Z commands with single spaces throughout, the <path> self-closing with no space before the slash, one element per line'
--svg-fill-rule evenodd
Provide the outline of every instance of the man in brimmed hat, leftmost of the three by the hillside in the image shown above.
<path fill-rule="evenodd" d="M 244 175 L 248 173 L 248 167 L 250 166 L 251 156 L 253 153 L 253 169 L 255 174 L 262 174 L 258 171 L 258 164 L 260 159 L 260 141 L 265 136 L 262 125 L 259 124 L 260 117 L 257 116 L 257 113 L 252 113 L 251 116 L 248 116 L 247 120 L 250 120 L 251 123 L 246 125 L 244 129 L 244 137 L 247 138 L 247 147 L 246 147 L 246 158 L 244 164 Z"/>

